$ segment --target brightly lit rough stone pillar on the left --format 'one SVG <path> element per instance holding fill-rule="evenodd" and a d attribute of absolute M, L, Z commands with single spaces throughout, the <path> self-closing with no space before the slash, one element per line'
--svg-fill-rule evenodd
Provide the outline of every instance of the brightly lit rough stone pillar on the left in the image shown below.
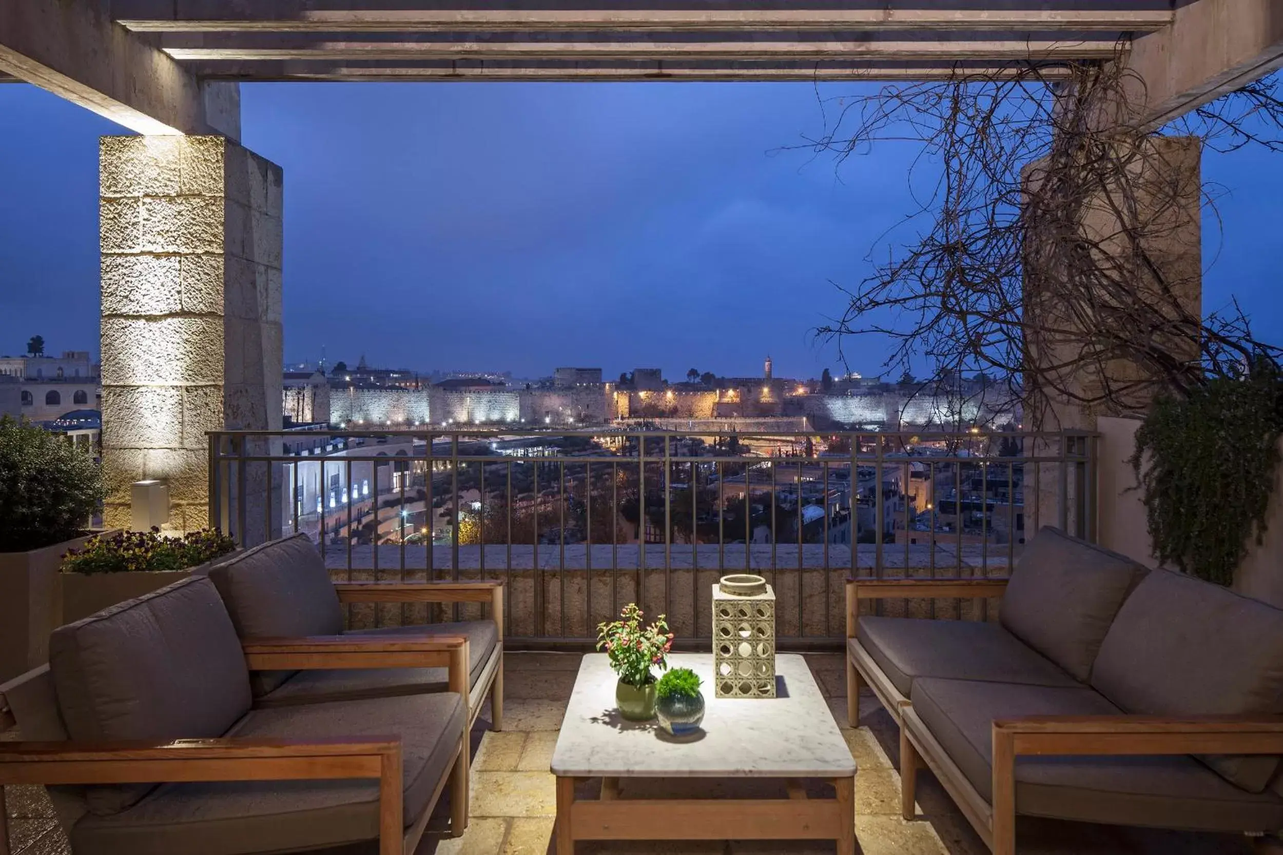
<path fill-rule="evenodd" d="M 200 528 L 205 432 L 281 427 L 281 168 L 213 136 L 103 137 L 99 167 L 104 522 L 160 478 Z"/>

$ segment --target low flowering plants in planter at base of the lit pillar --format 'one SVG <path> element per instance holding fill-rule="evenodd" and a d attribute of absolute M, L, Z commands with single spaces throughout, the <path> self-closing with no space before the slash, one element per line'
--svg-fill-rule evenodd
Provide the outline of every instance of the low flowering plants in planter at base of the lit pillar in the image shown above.
<path fill-rule="evenodd" d="M 127 573 L 185 570 L 227 555 L 236 541 L 217 528 L 201 528 L 182 537 L 160 537 L 160 529 L 123 532 L 89 538 L 85 549 L 63 559 L 63 573 Z"/>

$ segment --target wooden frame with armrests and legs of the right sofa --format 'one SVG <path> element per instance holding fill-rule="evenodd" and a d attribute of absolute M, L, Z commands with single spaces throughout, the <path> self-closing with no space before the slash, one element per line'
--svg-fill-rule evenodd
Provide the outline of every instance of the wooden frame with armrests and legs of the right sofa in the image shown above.
<path fill-rule="evenodd" d="M 1002 596 L 1007 579 L 847 579 L 847 638 L 858 637 L 860 602 L 884 599 L 974 599 Z M 1070 755 L 1283 754 L 1283 717 L 1030 715 L 993 722 L 993 802 L 962 770 L 913 711 L 881 668 L 847 646 L 847 705 L 860 724 L 860 687 L 866 682 L 899 724 L 901 814 L 916 818 L 919 769 L 928 768 L 993 855 L 1016 852 L 1016 758 Z M 1268 838 L 1259 851 L 1277 852 Z"/>

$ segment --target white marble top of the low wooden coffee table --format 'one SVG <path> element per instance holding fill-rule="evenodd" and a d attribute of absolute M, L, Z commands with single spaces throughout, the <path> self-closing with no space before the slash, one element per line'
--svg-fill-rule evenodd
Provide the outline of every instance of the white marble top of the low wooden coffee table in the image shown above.
<path fill-rule="evenodd" d="M 552 770 L 576 777 L 843 778 L 856 773 L 847 741 L 799 655 L 775 656 L 775 699 L 713 696 L 712 654 L 675 654 L 704 682 L 702 731 L 671 737 L 656 722 L 629 722 L 615 705 L 617 678 L 604 654 L 584 656 L 557 737 Z"/>

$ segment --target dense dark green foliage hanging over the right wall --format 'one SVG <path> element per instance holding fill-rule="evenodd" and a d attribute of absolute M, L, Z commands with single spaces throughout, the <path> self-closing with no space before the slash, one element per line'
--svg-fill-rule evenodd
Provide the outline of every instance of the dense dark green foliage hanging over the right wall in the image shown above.
<path fill-rule="evenodd" d="M 1229 585 L 1261 542 L 1279 463 L 1283 382 L 1266 360 L 1184 396 L 1159 397 L 1135 435 L 1132 468 L 1160 561 Z"/>

